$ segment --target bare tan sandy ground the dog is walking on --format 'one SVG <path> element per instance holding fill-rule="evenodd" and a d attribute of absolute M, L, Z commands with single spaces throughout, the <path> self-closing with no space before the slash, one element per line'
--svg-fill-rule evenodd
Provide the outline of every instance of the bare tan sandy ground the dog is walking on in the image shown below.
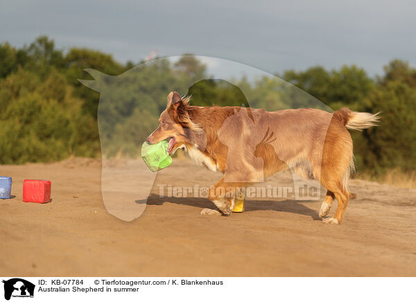
<path fill-rule="evenodd" d="M 245 213 L 200 216 L 214 208 L 207 199 L 159 197 L 157 184 L 209 186 L 220 175 L 177 159 L 158 173 L 144 213 L 125 222 L 103 204 L 101 161 L 0 166 L 0 175 L 15 195 L 0 199 L 1 276 L 416 276 L 414 189 L 352 180 L 358 197 L 340 226 L 318 218 L 322 199 L 260 198 Z M 22 202 L 23 179 L 51 180 L 52 202 Z"/>

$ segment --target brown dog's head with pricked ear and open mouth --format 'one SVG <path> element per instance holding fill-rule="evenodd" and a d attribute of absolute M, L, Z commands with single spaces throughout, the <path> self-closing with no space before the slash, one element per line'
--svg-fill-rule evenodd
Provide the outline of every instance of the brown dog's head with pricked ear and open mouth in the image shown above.
<path fill-rule="evenodd" d="M 169 139 L 169 154 L 173 154 L 184 143 L 191 143 L 191 132 L 199 131 L 198 125 L 191 121 L 192 108 L 189 97 L 181 98 L 176 91 L 168 95 L 168 104 L 159 118 L 159 127 L 146 139 L 150 144 Z"/>

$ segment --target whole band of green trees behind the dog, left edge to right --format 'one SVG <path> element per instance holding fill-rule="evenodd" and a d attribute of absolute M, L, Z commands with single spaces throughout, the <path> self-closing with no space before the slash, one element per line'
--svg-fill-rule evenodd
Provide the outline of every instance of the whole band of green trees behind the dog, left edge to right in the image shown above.
<path fill-rule="evenodd" d="M 86 48 L 64 52 L 48 37 L 22 48 L 0 44 L 0 163 L 98 157 L 100 140 L 107 156 L 137 156 L 172 90 L 192 94 L 195 105 L 249 105 L 247 96 L 250 106 L 268 110 L 317 107 L 319 102 L 303 90 L 334 110 L 347 106 L 383 112 L 380 127 L 352 134 L 358 168 L 416 170 L 416 70 L 406 62 L 390 62 L 376 78 L 357 66 L 332 71 L 318 66 L 278 75 L 302 90 L 276 77 L 242 78 L 236 86 L 214 80 L 189 55 L 175 63 L 160 59 L 132 69 L 139 63 L 120 64 L 112 55 Z M 119 76 L 92 72 L 92 77 L 86 68 Z M 78 79 L 95 79 L 87 86 L 96 91 Z"/>

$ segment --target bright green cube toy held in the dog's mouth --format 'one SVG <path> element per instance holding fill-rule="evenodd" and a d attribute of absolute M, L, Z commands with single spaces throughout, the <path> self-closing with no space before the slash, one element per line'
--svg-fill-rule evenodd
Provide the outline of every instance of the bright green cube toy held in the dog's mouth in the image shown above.
<path fill-rule="evenodd" d="M 150 145 L 146 141 L 141 145 L 141 157 L 149 167 L 150 171 L 156 172 L 171 166 L 172 157 L 168 153 L 169 143 L 160 141 Z"/>

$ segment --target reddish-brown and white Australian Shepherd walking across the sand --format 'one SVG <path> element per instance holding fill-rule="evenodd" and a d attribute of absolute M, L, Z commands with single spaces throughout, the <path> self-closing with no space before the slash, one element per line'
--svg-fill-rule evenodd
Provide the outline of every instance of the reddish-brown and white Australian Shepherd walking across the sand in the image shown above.
<path fill-rule="evenodd" d="M 223 172 L 223 178 L 209 190 L 209 199 L 218 209 L 205 208 L 202 215 L 230 215 L 236 192 L 292 168 L 327 188 L 320 217 L 327 215 L 334 198 L 338 200 L 335 216 L 323 221 L 340 224 L 351 197 L 347 182 L 354 170 L 347 129 L 363 130 L 377 121 L 377 114 L 347 108 L 331 114 L 309 108 L 266 112 L 245 107 L 198 107 L 189 105 L 189 97 L 171 92 L 159 127 L 147 141 L 169 139 L 170 154 L 184 148 L 191 159 L 209 170 Z M 229 195 L 230 191 L 234 195 Z"/>

